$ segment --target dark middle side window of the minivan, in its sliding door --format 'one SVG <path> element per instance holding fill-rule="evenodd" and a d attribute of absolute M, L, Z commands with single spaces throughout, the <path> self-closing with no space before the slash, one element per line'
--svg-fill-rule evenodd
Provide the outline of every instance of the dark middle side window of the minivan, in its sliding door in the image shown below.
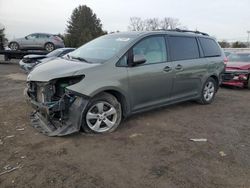
<path fill-rule="evenodd" d="M 199 48 L 194 37 L 169 37 L 172 61 L 199 58 Z"/>

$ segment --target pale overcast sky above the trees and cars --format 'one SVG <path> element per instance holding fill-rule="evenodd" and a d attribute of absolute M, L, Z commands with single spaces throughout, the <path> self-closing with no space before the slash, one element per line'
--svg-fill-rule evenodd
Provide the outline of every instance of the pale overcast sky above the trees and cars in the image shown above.
<path fill-rule="evenodd" d="M 222 40 L 247 40 L 250 0 L 0 0 L 9 39 L 33 32 L 64 33 L 78 5 L 89 6 L 106 31 L 126 31 L 129 18 L 174 17 L 188 29 Z"/>

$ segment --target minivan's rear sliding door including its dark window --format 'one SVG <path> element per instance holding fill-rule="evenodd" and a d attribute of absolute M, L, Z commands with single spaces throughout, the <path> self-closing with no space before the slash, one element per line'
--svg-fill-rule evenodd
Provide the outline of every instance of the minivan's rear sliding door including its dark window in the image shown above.
<path fill-rule="evenodd" d="M 198 41 L 192 36 L 168 36 L 174 81 L 171 98 L 185 100 L 199 94 L 207 63 L 200 58 Z"/>

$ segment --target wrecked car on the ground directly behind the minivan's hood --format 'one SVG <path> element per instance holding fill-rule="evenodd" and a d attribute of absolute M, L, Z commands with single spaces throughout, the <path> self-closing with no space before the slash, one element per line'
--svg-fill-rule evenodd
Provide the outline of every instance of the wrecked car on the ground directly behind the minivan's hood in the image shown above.
<path fill-rule="evenodd" d="M 75 48 L 59 48 L 53 52 L 48 53 L 47 55 L 26 55 L 19 62 L 20 67 L 25 70 L 25 72 L 31 71 L 36 65 L 40 63 L 45 63 L 50 60 L 53 60 L 57 57 L 62 57 L 65 54 L 68 54 L 74 51 Z"/>

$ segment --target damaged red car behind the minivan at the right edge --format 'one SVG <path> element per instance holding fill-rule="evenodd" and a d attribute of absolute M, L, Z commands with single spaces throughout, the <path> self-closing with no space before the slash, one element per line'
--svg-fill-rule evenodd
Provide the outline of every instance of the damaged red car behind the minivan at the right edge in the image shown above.
<path fill-rule="evenodd" d="M 250 88 L 250 52 L 231 53 L 227 58 L 222 84 Z"/>

